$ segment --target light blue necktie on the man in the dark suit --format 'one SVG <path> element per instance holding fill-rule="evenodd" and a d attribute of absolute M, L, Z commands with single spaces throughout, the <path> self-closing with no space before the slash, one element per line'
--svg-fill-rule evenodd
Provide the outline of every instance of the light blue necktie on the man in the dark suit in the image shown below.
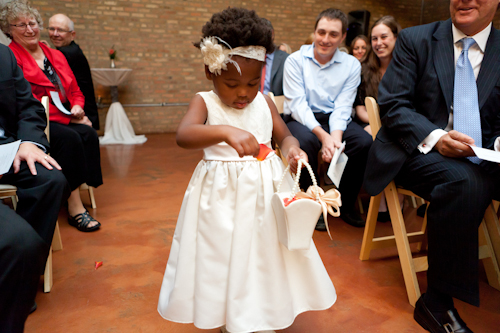
<path fill-rule="evenodd" d="M 462 53 L 455 68 L 455 87 L 453 89 L 453 129 L 467 134 L 474 139 L 477 147 L 482 147 L 481 118 L 477 97 L 476 78 L 469 61 L 469 48 L 475 43 L 473 38 L 463 38 Z M 471 162 L 479 164 L 476 157 L 467 157 Z"/>

